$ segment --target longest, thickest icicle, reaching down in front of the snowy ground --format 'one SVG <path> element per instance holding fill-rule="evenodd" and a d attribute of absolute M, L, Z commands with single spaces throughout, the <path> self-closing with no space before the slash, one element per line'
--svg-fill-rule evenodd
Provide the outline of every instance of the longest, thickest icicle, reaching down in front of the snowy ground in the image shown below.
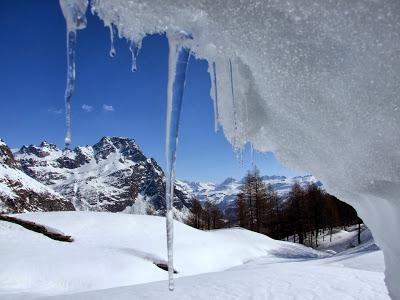
<path fill-rule="evenodd" d="M 174 290 L 173 264 L 173 201 L 174 201 L 174 167 L 176 147 L 178 144 L 179 119 L 182 108 L 183 91 L 185 88 L 186 70 L 190 57 L 190 50 L 183 46 L 183 42 L 190 38 L 186 32 L 180 32 L 177 37 L 168 36 L 169 42 L 169 70 L 167 92 L 167 126 L 165 155 L 167 165 L 166 202 L 167 202 L 167 247 L 168 247 L 168 277 L 169 289 Z"/>

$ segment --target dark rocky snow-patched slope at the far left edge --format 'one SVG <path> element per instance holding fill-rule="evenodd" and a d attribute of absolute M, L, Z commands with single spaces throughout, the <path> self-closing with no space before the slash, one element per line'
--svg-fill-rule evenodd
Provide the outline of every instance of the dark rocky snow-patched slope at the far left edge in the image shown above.
<path fill-rule="evenodd" d="M 75 209 L 62 195 L 22 172 L 0 139 L 0 213 L 59 210 Z"/>

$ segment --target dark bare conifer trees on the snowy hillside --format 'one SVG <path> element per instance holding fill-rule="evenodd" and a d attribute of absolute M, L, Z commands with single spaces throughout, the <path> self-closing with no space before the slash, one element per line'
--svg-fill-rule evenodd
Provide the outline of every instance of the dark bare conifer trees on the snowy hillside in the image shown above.
<path fill-rule="evenodd" d="M 355 209 L 321 190 L 316 184 L 302 187 L 295 183 L 289 195 L 281 199 L 266 185 L 254 169 L 246 175 L 236 196 L 235 214 L 225 216 L 212 202 L 192 199 L 191 214 L 186 223 L 194 228 L 211 230 L 240 226 L 274 239 L 286 239 L 318 247 L 318 238 L 333 229 L 358 224 L 360 243 L 362 220 Z"/>

